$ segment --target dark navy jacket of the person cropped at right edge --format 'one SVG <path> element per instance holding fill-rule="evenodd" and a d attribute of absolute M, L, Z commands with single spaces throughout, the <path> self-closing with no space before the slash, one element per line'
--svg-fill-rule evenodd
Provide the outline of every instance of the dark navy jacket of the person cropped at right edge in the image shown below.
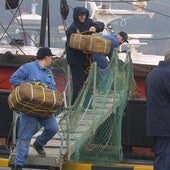
<path fill-rule="evenodd" d="M 146 79 L 147 134 L 170 137 L 170 62 L 160 61 Z"/>

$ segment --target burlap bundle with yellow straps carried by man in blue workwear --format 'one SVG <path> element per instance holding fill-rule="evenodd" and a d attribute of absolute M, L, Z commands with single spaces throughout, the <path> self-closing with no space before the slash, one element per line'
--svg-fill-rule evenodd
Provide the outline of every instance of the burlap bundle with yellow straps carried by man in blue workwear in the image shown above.
<path fill-rule="evenodd" d="M 8 96 L 9 107 L 26 115 L 48 118 L 62 106 L 62 95 L 40 85 L 23 83 Z"/>

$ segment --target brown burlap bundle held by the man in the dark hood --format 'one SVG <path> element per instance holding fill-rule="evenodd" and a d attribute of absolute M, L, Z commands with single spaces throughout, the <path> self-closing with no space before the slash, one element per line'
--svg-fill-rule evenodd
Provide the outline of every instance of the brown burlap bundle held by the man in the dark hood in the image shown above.
<path fill-rule="evenodd" d="M 70 37 L 70 47 L 90 53 L 109 54 L 111 41 L 98 35 L 74 33 Z"/>

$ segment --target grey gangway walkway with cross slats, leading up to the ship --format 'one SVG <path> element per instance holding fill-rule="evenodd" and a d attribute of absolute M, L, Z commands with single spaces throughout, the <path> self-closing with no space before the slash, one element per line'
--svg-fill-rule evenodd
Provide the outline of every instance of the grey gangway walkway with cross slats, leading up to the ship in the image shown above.
<path fill-rule="evenodd" d="M 119 95 L 120 96 L 120 95 Z M 89 131 L 93 131 L 94 133 L 97 130 L 97 126 L 95 128 L 91 128 L 92 124 L 94 123 L 93 118 L 95 117 L 95 121 L 100 121 L 101 123 L 104 122 L 112 113 L 113 105 L 116 105 L 116 103 L 119 100 L 119 96 L 117 98 L 114 98 L 114 93 L 107 96 L 105 100 L 107 100 L 106 107 L 104 109 L 104 114 L 101 115 L 100 109 L 101 109 L 101 103 L 102 100 L 105 98 L 104 94 L 96 94 L 94 96 L 95 100 L 93 100 L 93 103 L 95 103 L 95 107 L 93 106 L 91 109 L 85 109 L 84 112 L 82 112 L 82 117 L 80 118 L 80 121 L 76 125 L 76 129 L 70 133 L 69 140 L 71 141 L 71 146 L 67 148 L 66 144 L 66 136 L 67 131 L 63 132 L 61 128 L 59 128 L 59 132 L 44 146 L 44 149 L 46 151 L 46 156 L 42 157 L 37 154 L 35 149 L 33 148 L 32 144 L 36 137 L 41 134 L 43 129 L 40 129 L 31 140 L 31 146 L 29 149 L 29 155 L 27 157 L 25 166 L 43 166 L 43 167 L 60 167 L 62 168 L 62 164 L 64 161 L 67 161 L 69 157 L 75 152 L 75 141 L 78 139 L 86 138 L 88 139 L 89 136 L 86 134 L 89 134 Z M 57 122 L 60 122 L 60 119 L 62 119 L 63 113 L 56 116 Z M 97 120 L 98 117 L 100 120 Z M 94 127 L 94 126 L 93 126 Z M 69 154 L 69 156 L 68 156 Z M 11 154 L 10 162 L 13 164 L 15 159 L 15 153 Z"/>

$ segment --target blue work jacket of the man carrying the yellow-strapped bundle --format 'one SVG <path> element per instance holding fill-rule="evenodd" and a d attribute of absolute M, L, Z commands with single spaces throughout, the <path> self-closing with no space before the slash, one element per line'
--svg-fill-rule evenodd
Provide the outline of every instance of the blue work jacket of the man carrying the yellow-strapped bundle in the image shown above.
<path fill-rule="evenodd" d="M 47 88 L 57 89 L 51 69 L 42 68 L 38 60 L 21 66 L 12 74 L 9 81 L 15 87 L 25 82 L 39 82 Z"/>

